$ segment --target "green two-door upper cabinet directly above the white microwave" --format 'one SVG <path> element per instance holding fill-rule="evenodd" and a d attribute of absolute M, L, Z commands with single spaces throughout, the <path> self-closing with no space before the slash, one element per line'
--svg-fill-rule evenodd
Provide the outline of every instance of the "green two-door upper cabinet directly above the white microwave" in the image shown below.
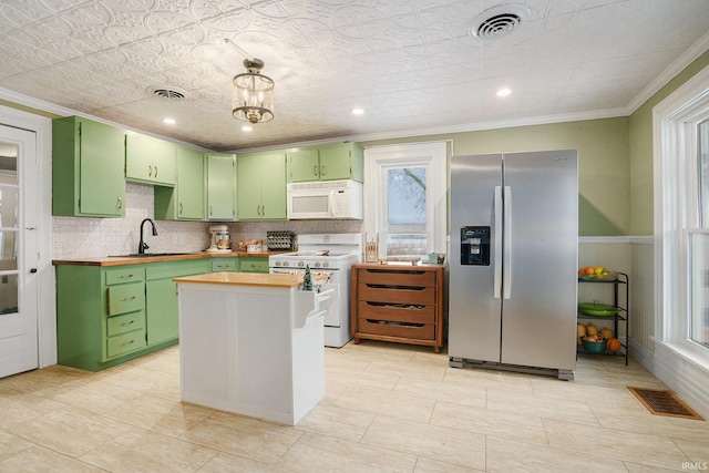
<path fill-rule="evenodd" d="M 288 152 L 288 182 L 354 179 L 363 182 L 364 157 L 357 143 L 337 143 Z"/>

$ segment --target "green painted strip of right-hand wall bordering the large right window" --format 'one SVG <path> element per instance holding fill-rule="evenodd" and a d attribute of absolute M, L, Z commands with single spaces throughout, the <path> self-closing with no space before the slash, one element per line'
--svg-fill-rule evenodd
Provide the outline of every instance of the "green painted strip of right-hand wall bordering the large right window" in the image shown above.
<path fill-rule="evenodd" d="M 709 65 L 709 51 L 672 78 L 630 115 L 630 235 L 653 235 L 653 107 Z"/>

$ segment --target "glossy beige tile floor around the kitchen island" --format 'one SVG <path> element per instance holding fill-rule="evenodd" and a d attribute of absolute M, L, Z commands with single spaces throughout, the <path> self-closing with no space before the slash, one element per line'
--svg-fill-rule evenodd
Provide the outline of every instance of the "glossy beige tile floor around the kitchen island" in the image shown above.
<path fill-rule="evenodd" d="M 709 469 L 709 422 L 648 413 L 625 387 L 666 387 L 633 360 L 582 358 L 566 382 L 350 343 L 326 349 L 326 398 L 286 426 L 181 403 L 178 350 L 0 379 L 0 472 Z"/>

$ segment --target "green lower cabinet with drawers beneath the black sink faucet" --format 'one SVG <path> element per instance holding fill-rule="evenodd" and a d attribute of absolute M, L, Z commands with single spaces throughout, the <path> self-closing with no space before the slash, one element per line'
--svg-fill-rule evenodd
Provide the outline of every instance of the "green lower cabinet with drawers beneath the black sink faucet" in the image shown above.
<path fill-rule="evenodd" d="M 59 265 L 55 271 L 58 362 L 101 371 L 178 341 L 172 278 L 209 273 L 209 260 Z"/>

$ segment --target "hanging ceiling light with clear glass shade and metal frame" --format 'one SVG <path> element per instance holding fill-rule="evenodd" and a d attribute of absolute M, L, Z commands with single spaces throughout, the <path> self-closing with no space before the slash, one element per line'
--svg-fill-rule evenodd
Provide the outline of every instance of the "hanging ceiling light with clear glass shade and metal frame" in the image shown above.
<path fill-rule="evenodd" d="M 248 72 L 234 76 L 234 96 L 232 114 L 238 120 L 250 123 L 274 120 L 274 81 L 261 75 L 264 61 L 245 59 Z"/>

